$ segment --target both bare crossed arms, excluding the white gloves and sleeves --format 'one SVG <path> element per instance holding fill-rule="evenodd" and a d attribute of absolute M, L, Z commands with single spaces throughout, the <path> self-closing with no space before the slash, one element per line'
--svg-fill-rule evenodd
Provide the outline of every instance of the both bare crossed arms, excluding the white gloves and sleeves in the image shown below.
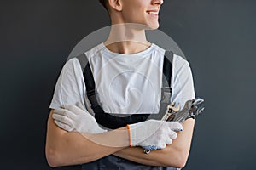
<path fill-rule="evenodd" d="M 54 110 L 49 113 L 45 154 L 49 166 L 60 167 L 78 165 L 96 161 L 104 156 L 115 155 L 149 166 L 184 167 L 189 156 L 189 149 L 194 129 L 194 120 L 183 123 L 183 132 L 177 133 L 177 139 L 163 150 L 154 150 L 150 154 L 143 153 L 140 147 L 121 146 L 129 141 L 126 127 L 107 133 L 89 134 L 67 132 L 55 125 L 52 118 Z M 123 133 L 118 133 L 122 130 Z M 84 138 L 90 137 L 90 138 Z M 114 139 L 119 147 L 97 144 L 90 139 Z M 109 143 L 113 141 L 107 141 Z M 126 144 L 129 145 L 129 144 Z"/>

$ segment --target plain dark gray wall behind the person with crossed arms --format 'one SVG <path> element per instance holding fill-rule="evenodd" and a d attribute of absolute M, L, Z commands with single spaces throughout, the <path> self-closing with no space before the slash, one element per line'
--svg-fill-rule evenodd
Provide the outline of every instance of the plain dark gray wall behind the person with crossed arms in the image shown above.
<path fill-rule="evenodd" d="M 44 144 L 55 81 L 73 47 L 108 26 L 96 0 L 0 2 L 0 169 L 51 169 Z M 256 1 L 166 0 L 160 30 L 206 99 L 184 169 L 254 169 Z M 56 169 L 79 169 L 58 167 Z"/>

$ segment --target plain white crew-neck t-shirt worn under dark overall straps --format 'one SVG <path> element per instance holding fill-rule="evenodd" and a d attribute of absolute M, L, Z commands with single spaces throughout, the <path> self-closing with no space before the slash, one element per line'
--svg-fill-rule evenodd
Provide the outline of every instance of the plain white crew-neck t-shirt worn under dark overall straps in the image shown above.
<path fill-rule="evenodd" d="M 165 50 L 151 44 L 137 54 L 116 54 L 103 43 L 87 51 L 102 108 L 107 113 L 158 113 Z M 174 54 L 172 61 L 172 97 L 182 107 L 195 99 L 193 77 L 187 60 Z M 63 66 L 55 86 L 51 109 L 81 102 L 93 115 L 86 96 L 83 71 L 76 58 Z"/>

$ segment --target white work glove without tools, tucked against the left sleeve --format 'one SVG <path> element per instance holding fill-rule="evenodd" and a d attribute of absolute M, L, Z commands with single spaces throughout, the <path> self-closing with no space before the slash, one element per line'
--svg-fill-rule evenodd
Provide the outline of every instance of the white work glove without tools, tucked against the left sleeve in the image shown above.
<path fill-rule="evenodd" d="M 82 104 L 65 105 L 65 109 L 55 109 L 52 118 L 58 127 L 68 132 L 81 132 L 81 133 L 104 133 L 99 127 L 94 116 L 84 108 Z"/>

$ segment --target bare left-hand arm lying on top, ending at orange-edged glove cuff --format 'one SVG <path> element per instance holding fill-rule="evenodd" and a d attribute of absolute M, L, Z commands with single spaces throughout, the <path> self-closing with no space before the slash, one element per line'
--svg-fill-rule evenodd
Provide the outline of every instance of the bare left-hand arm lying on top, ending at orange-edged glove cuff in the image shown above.
<path fill-rule="evenodd" d="M 118 134 L 114 131 L 96 135 L 67 133 L 55 125 L 51 115 L 52 111 L 49 115 L 45 150 L 51 167 L 95 161 L 122 150 L 129 144 L 127 130 L 117 131 Z"/>

